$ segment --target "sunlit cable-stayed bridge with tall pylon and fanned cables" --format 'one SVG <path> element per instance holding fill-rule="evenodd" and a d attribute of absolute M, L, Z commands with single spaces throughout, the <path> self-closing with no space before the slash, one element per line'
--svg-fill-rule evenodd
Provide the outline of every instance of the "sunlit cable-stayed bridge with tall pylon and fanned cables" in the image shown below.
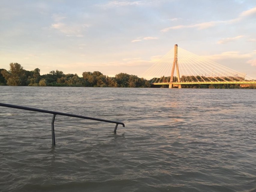
<path fill-rule="evenodd" d="M 150 83 L 153 85 L 169 85 L 169 88 L 181 88 L 184 84 L 240 84 L 241 87 L 256 85 L 256 78 L 184 50 L 177 44 L 144 72 L 143 77 L 151 79 Z"/>

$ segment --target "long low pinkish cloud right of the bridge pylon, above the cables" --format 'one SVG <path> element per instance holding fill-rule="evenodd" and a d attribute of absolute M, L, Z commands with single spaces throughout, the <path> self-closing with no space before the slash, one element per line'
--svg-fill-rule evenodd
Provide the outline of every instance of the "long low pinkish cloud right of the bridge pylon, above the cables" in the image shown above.
<path fill-rule="evenodd" d="M 227 51 L 221 54 L 208 55 L 203 57 L 210 60 L 215 60 L 215 59 L 244 59 L 244 58 L 251 58 L 251 56 L 252 55 L 249 53 L 240 54 L 238 51 Z"/>

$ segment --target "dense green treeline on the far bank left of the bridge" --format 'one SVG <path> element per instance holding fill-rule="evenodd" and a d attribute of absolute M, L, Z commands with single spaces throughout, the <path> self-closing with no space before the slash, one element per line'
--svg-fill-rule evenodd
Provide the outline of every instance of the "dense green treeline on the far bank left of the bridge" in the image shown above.
<path fill-rule="evenodd" d="M 10 63 L 10 70 L 0 69 L 0 85 L 9 86 L 59 86 L 59 87 L 150 87 L 148 80 L 136 75 L 119 73 L 108 77 L 99 71 L 77 74 L 64 74 L 51 71 L 40 75 L 40 69 L 27 71 L 19 63 Z"/>

